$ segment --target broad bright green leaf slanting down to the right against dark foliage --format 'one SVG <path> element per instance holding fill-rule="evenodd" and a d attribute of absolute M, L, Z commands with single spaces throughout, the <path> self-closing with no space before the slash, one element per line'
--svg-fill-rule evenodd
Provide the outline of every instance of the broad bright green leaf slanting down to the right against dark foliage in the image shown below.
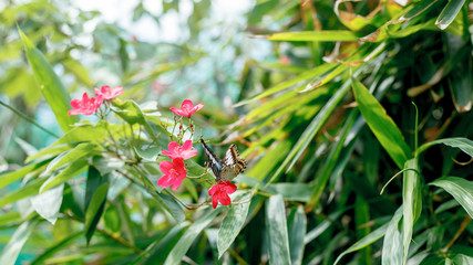
<path fill-rule="evenodd" d="M 351 81 L 358 108 L 367 120 L 368 126 L 395 165 L 402 168 L 405 161 L 412 158 L 412 155 L 401 131 L 381 104 L 368 92 L 367 87 L 356 78 L 351 78 Z"/>

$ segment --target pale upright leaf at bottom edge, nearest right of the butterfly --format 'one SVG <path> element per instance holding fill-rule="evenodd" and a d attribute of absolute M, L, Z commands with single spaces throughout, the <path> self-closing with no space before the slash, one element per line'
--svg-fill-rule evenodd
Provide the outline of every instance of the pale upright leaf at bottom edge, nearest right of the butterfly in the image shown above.
<path fill-rule="evenodd" d="M 266 230 L 270 264 L 291 264 L 286 208 L 282 195 L 271 195 L 266 205 Z"/>

